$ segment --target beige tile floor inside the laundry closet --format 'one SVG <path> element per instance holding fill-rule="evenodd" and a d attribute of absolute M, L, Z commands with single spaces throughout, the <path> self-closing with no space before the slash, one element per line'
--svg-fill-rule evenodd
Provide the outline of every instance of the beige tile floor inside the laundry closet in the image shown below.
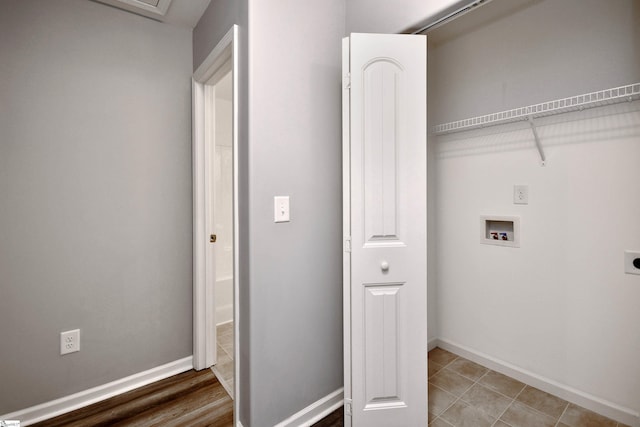
<path fill-rule="evenodd" d="M 441 348 L 429 352 L 429 426 L 628 427 Z"/>

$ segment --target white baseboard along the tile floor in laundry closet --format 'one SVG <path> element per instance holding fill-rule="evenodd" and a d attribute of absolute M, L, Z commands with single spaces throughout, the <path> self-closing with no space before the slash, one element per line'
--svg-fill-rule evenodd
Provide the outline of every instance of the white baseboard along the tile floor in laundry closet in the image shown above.
<path fill-rule="evenodd" d="M 474 349 L 453 343 L 446 339 L 437 339 L 436 345 L 466 359 L 476 362 L 484 367 L 493 369 L 501 374 L 523 382 L 542 391 L 558 396 L 568 402 L 582 406 L 605 417 L 627 424 L 631 427 L 640 427 L 640 414 L 615 403 L 606 401 L 589 393 L 576 390 L 565 384 L 561 384 L 541 375 L 512 365 L 504 360 L 481 353 Z"/>

